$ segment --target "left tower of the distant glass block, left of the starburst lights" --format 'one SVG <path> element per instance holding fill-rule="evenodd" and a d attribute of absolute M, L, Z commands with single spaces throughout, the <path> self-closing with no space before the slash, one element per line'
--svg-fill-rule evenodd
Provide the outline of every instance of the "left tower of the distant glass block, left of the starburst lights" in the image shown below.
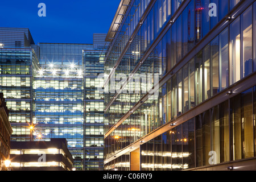
<path fill-rule="evenodd" d="M 12 140 L 31 140 L 28 126 L 33 119 L 32 86 L 39 70 L 38 50 L 28 28 L 0 28 L 0 90 L 9 108 Z"/>

